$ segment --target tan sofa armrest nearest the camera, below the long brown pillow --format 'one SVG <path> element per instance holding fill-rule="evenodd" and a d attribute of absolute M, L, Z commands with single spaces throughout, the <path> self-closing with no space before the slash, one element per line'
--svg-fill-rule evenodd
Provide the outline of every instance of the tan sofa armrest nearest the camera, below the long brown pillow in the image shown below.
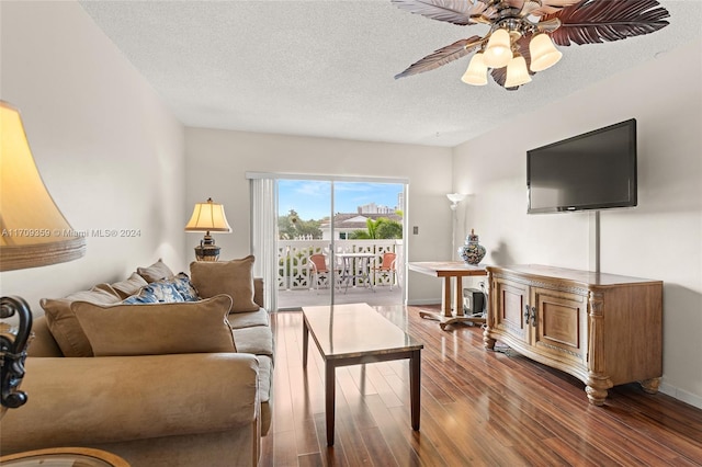
<path fill-rule="evenodd" d="M 0 422 L 0 451 L 259 430 L 258 361 L 203 353 L 30 357 L 27 402 Z"/>

